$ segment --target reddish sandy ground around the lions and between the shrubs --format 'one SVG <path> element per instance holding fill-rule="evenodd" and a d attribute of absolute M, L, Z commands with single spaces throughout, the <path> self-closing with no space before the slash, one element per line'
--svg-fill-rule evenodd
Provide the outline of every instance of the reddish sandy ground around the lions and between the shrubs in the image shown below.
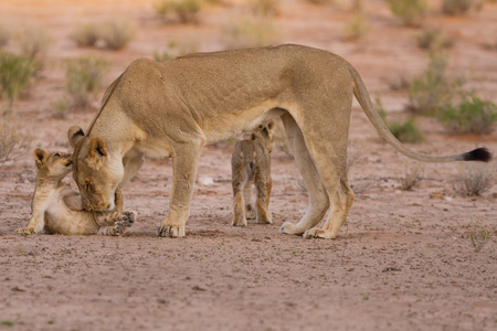
<path fill-rule="evenodd" d="M 110 83 L 130 61 L 151 56 L 170 41 L 219 50 L 222 24 L 244 14 L 237 2 L 204 8 L 197 25 L 181 25 L 165 24 L 152 1 L 1 0 L 2 23 L 43 26 L 52 39 L 43 78 L 14 108 L 32 148 L 68 151 L 67 128 L 88 126 L 97 111 L 96 102 L 92 109 L 56 116 L 63 58 L 98 53 L 112 63 Z M 390 85 L 425 68 L 427 55 L 414 40 L 420 30 L 402 28 L 383 1 L 366 1 L 369 33 L 345 42 L 347 1 L 281 2 L 273 21 L 282 42 L 342 55 L 371 95 L 381 96 L 389 118 L 409 116 L 405 90 Z M 483 46 L 496 42 L 497 4 L 446 18 L 438 2 L 432 3 L 427 23 L 455 39 L 451 71 L 497 103 L 497 52 Z M 67 38 L 81 23 L 113 18 L 137 26 L 121 51 L 78 49 Z M 12 43 L 8 47 L 15 50 Z M 415 150 L 440 154 L 486 146 L 497 151 L 495 132 L 454 136 L 431 118 L 416 121 L 426 140 L 410 146 Z M 222 142 L 203 150 L 187 237 L 180 239 L 156 236 L 168 210 L 169 160 L 147 161 L 125 188 L 125 209 L 139 213 L 125 237 L 15 235 L 30 218 L 35 167 L 31 153 L 0 166 L 0 330 L 496 330 L 496 188 L 477 197 L 457 194 L 452 183 L 461 164 L 406 160 L 378 138 L 357 105 L 350 145 L 357 196 L 334 241 L 278 233 L 307 207 L 283 140 L 273 153 L 274 224 L 230 226 L 233 143 Z M 423 179 L 413 191 L 401 191 L 398 178 L 413 167 L 424 167 Z M 486 167 L 496 169 L 496 161 Z M 476 223 L 493 234 L 478 253 L 468 236 Z"/>

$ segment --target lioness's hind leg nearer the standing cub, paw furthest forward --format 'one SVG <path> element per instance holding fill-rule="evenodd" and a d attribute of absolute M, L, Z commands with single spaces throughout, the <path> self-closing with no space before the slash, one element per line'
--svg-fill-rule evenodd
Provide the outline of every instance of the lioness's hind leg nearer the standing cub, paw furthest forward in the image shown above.
<path fill-rule="evenodd" d="M 295 164 L 300 170 L 309 194 L 309 206 L 304 217 L 297 224 L 285 222 L 279 232 L 302 235 L 307 229 L 316 226 L 325 216 L 329 207 L 329 197 L 316 166 L 309 156 L 300 128 L 289 114 L 283 115 L 282 120 L 285 126 L 289 148 L 295 158 Z"/>

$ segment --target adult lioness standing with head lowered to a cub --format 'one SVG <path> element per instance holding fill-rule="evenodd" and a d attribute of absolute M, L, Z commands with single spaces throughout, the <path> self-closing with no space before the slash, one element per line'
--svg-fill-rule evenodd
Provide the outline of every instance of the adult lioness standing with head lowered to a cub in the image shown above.
<path fill-rule="evenodd" d="M 485 148 L 448 157 L 409 150 L 374 110 L 358 72 L 327 51 L 279 45 L 198 53 L 158 63 L 139 58 L 107 88 L 86 134 L 68 130 L 73 177 L 83 205 L 112 211 L 114 196 L 144 157 L 172 158 L 169 212 L 159 236 L 184 236 L 200 150 L 279 116 L 309 194 L 309 207 L 286 234 L 335 238 L 353 202 L 347 180 L 352 95 L 381 137 L 424 162 L 488 161 Z M 321 229 L 314 228 L 332 206 Z"/>

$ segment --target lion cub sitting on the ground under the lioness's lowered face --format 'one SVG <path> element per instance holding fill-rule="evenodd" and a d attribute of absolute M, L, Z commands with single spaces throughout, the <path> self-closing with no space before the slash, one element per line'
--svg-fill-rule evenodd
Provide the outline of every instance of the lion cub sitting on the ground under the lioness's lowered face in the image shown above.
<path fill-rule="evenodd" d="M 31 202 L 32 217 L 28 227 L 18 228 L 18 234 L 45 231 L 51 234 L 119 236 L 136 220 L 136 212 L 94 213 L 83 211 L 81 195 L 62 179 L 72 171 L 72 154 L 47 153 L 41 148 L 33 152 L 38 167 L 36 184 Z M 116 206 L 117 207 L 117 206 Z M 118 206 L 118 210 L 121 209 Z"/>

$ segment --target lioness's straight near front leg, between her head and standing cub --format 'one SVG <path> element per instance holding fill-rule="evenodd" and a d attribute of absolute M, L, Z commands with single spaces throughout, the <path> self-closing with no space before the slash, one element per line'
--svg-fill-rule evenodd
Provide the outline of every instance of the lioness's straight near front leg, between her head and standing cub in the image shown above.
<path fill-rule="evenodd" d="M 183 237 L 203 142 L 181 143 L 172 154 L 172 190 L 169 212 L 158 229 L 161 237 Z"/>

